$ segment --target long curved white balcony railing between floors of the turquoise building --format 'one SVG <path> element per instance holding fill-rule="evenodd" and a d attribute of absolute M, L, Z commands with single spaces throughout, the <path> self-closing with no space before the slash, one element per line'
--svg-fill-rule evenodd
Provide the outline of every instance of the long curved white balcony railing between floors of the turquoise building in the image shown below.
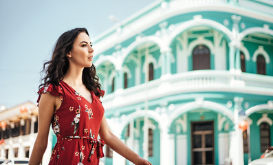
<path fill-rule="evenodd" d="M 153 100 L 164 96 L 194 92 L 233 92 L 273 96 L 273 76 L 241 72 L 199 70 L 164 76 L 146 84 L 118 89 L 105 95 L 105 109 Z"/>

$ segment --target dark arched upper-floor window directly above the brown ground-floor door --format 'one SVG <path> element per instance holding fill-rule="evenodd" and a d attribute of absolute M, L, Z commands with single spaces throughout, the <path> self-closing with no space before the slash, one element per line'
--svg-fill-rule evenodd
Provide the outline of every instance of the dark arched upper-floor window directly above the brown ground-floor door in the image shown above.
<path fill-rule="evenodd" d="M 193 49 L 193 70 L 210 69 L 210 50 L 205 45 Z"/>

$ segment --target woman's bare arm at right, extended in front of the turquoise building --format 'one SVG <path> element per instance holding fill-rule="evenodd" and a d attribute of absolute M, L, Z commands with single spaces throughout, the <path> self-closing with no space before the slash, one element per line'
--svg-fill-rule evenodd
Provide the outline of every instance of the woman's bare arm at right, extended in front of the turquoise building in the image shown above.
<path fill-rule="evenodd" d="M 133 164 L 137 165 L 151 165 L 146 159 L 143 159 L 138 154 L 133 152 L 129 147 L 127 147 L 116 135 L 114 135 L 105 119 L 105 116 L 102 118 L 102 122 L 100 124 L 100 138 L 105 141 L 105 144 L 116 151 L 129 161 L 133 162 Z"/>

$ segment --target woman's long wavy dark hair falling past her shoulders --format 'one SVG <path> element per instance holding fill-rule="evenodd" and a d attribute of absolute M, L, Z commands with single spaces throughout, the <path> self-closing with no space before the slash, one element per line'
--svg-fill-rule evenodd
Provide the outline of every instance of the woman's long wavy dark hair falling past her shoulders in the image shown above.
<path fill-rule="evenodd" d="M 63 80 L 69 67 L 67 54 L 72 50 L 73 43 L 80 32 L 85 32 L 89 36 L 85 28 L 75 28 L 64 32 L 58 38 L 52 53 L 52 59 L 43 64 L 43 70 L 41 73 L 44 73 L 45 77 L 41 79 L 41 85 L 39 85 L 39 88 L 49 83 L 52 85 L 58 85 L 60 81 Z M 83 84 L 87 89 L 94 91 L 96 96 L 100 96 L 101 94 L 101 87 L 100 83 L 98 83 L 98 79 L 96 67 L 94 65 L 83 69 Z"/>

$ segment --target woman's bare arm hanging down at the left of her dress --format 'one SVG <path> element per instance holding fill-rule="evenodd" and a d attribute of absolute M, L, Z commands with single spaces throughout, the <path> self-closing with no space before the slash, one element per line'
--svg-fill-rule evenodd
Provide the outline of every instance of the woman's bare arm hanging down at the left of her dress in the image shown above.
<path fill-rule="evenodd" d="M 54 114 L 56 98 L 56 96 L 45 93 L 42 94 L 39 101 L 38 134 L 30 157 L 30 165 L 40 164 L 43 153 L 45 153 L 45 149 L 47 148 L 48 133 Z"/>

